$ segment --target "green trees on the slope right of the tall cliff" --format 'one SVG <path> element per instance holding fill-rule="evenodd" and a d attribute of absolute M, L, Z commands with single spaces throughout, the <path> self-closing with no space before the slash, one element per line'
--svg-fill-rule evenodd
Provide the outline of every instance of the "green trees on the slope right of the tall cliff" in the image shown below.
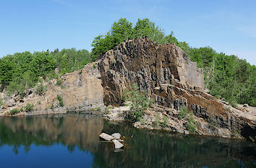
<path fill-rule="evenodd" d="M 236 56 L 216 53 L 213 48 L 191 48 L 189 57 L 205 71 L 205 87 L 230 105 L 256 106 L 256 67 Z"/>

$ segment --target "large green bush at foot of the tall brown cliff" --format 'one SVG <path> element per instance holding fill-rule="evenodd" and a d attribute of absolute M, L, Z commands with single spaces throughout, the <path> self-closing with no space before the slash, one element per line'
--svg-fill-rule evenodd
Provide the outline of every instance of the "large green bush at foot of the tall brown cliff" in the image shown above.
<path fill-rule="evenodd" d="M 132 87 L 124 92 L 123 98 L 130 102 L 131 112 L 129 114 L 129 120 L 132 121 L 140 120 L 145 110 L 153 103 L 153 100 L 149 99 L 145 92 L 139 91 L 137 84 L 132 84 Z"/>

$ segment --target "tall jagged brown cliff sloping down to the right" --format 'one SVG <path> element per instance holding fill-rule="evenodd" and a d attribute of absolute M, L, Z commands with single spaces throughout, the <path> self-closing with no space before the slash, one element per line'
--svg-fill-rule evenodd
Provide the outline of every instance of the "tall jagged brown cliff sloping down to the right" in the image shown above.
<path fill-rule="evenodd" d="M 137 83 L 163 111 L 187 106 L 202 120 L 197 125 L 202 134 L 221 136 L 228 131 L 228 137 L 234 132 L 256 136 L 255 113 L 236 110 L 204 92 L 202 68 L 197 68 L 174 44 L 155 45 L 148 38 L 127 40 L 105 53 L 98 66 L 104 102 L 110 105 L 122 105 L 124 90 Z M 209 133 L 208 125 L 203 123 L 214 123 L 224 131 Z"/>

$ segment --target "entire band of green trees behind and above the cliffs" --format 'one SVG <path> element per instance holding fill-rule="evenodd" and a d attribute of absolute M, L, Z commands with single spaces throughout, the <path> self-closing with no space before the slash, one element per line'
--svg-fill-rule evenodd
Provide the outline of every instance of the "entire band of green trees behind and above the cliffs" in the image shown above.
<path fill-rule="evenodd" d="M 197 66 L 204 69 L 205 89 L 217 98 L 236 106 L 236 103 L 256 106 L 256 67 L 236 56 L 217 53 L 210 47 L 192 48 L 185 41 L 179 41 L 174 33 L 165 35 L 164 31 L 150 19 L 138 19 L 133 25 L 125 18 L 114 22 L 105 35 L 98 35 L 92 42 L 92 52 L 88 50 L 58 49 L 54 51 L 23 52 L 4 56 L 0 59 L 0 91 L 26 94 L 27 89 L 35 87 L 39 77 L 57 78 L 61 74 L 76 71 L 85 64 L 95 61 L 106 51 L 121 42 L 147 36 L 156 44 L 175 43 L 182 48 Z M 58 68 L 60 73 L 56 74 Z"/>

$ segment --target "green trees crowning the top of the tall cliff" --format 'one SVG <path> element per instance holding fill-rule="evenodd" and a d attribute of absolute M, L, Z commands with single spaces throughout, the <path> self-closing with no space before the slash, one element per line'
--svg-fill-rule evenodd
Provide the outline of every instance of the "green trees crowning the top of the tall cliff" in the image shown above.
<path fill-rule="evenodd" d="M 140 37 L 148 37 L 157 44 L 175 43 L 183 50 L 188 50 L 189 48 L 186 42 L 178 42 L 176 37 L 173 36 L 173 32 L 165 36 L 163 30 L 155 26 L 154 22 L 150 22 L 148 18 L 138 19 L 134 27 L 132 27 L 132 22 L 127 21 L 125 18 L 120 18 L 117 22 L 114 22 L 111 30 L 106 32 L 106 35 L 98 35 L 94 38 L 91 44 L 93 46 L 92 53 L 98 57 L 125 40 Z"/>

